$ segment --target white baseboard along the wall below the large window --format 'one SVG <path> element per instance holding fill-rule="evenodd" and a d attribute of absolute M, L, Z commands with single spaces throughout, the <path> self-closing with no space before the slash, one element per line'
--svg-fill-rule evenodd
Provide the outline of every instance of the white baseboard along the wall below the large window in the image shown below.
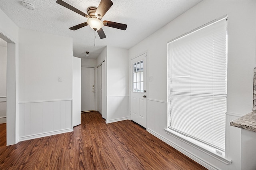
<path fill-rule="evenodd" d="M 173 148 L 175 148 L 176 150 L 178 150 L 179 152 L 181 152 L 182 154 L 188 156 L 189 158 L 191 158 L 192 160 L 196 161 L 198 164 L 204 166 L 205 168 L 207 168 L 208 170 L 218 170 L 217 167 L 215 167 L 214 165 L 210 164 L 209 162 L 206 162 L 200 158 L 198 158 L 196 155 L 188 152 L 187 150 L 185 150 L 184 148 L 174 144 L 173 142 L 171 142 L 170 140 L 164 138 L 163 136 L 157 134 L 156 132 L 150 130 L 149 128 L 147 128 L 147 131 L 156 136 L 157 138 L 159 138 L 160 140 L 166 142 L 168 145 L 172 146 Z"/>

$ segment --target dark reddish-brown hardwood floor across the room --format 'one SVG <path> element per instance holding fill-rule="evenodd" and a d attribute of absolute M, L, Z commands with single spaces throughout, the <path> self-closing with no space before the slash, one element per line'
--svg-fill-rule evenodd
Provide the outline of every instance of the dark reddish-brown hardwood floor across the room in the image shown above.
<path fill-rule="evenodd" d="M 1 170 L 204 170 L 131 121 L 106 124 L 98 112 L 82 113 L 74 132 L 2 145 Z M 4 143 L 4 142 L 3 142 Z"/>

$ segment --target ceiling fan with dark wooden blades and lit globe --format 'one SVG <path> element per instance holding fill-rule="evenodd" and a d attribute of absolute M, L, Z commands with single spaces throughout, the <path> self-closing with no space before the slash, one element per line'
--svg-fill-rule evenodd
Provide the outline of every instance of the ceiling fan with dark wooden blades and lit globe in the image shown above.
<path fill-rule="evenodd" d="M 106 35 L 105 35 L 104 31 L 102 30 L 103 26 L 117 28 L 120 30 L 126 30 L 126 28 L 127 28 L 126 24 L 120 24 L 117 22 L 106 21 L 106 20 L 104 20 L 103 22 L 101 21 L 102 17 L 106 14 L 106 12 L 113 5 L 113 2 L 111 0 L 101 0 L 98 8 L 94 7 L 94 6 L 90 6 L 89 8 L 87 8 L 88 14 L 85 14 L 84 12 L 76 9 L 75 7 L 71 6 L 70 4 L 67 4 L 66 2 L 64 2 L 62 0 L 57 0 L 56 2 L 58 4 L 60 4 L 61 6 L 64 6 L 68 9 L 84 16 L 85 18 L 88 18 L 87 22 L 70 27 L 69 28 L 70 30 L 78 30 L 79 28 L 89 25 L 94 31 L 98 32 L 100 38 L 102 39 L 102 38 L 106 38 Z"/>

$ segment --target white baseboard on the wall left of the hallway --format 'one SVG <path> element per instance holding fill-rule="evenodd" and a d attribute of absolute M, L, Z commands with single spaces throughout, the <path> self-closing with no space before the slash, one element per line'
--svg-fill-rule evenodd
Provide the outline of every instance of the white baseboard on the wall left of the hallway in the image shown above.
<path fill-rule="evenodd" d="M 23 137 L 19 138 L 19 142 L 24 141 L 24 140 L 42 138 L 42 137 L 46 137 L 46 136 L 52 136 L 52 135 L 55 135 L 55 134 L 67 133 L 67 132 L 73 132 L 73 128 L 67 128 L 67 129 L 63 129 L 63 130 L 56 130 L 56 131 L 52 131 L 52 132 L 45 132 L 45 133 L 40 133 L 40 134 L 33 134 L 33 135 L 23 136 Z"/>

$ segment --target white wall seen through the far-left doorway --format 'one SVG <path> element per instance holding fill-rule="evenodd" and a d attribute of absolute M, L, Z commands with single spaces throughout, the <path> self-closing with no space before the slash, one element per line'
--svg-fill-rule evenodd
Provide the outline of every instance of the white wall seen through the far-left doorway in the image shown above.
<path fill-rule="evenodd" d="M 0 47 L 0 123 L 6 123 L 7 43 Z"/>

